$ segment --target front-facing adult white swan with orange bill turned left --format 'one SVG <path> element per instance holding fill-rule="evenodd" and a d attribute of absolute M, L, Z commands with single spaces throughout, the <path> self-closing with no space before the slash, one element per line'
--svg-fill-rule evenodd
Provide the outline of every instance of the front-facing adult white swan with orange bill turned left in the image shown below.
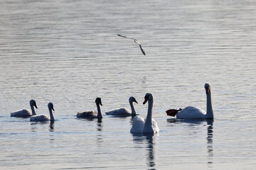
<path fill-rule="evenodd" d="M 143 104 L 149 101 L 146 118 L 137 115 L 132 122 L 131 133 L 157 133 L 159 132 L 156 121 L 152 118 L 153 94 L 146 94 Z"/>

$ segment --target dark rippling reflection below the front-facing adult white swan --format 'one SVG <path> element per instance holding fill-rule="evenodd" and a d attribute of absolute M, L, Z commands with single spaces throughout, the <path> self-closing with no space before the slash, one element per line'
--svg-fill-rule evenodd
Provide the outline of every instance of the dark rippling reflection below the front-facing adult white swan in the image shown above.
<path fill-rule="evenodd" d="M 154 140 L 153 136 L 156 134 L 132 134 L 134 142 L 142 144 L 143 141 L 146 141 L 146 165 L 149 169 L 153 170 L 156 166 L 155 163 L 155 154 L 154 154 Z"/>

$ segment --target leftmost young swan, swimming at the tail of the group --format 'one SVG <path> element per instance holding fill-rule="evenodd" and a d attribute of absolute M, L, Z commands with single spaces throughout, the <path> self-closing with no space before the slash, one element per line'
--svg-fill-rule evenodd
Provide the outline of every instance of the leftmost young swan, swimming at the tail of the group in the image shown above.
<path fill-rule="evenodd" d="M 34 107 L 37 108 L 36 101 L 32 99 L 29 103 L 30 103 L 30 106 L 31 106 L 32 113 L 31 113 L 31 111 L 28 111 L 28 109 L 23 108 L 20 111 L 15 111 L 15 112 L 11 113 L 11 117 L 29 118 L 32 115 L 36 115 L 36 111 L 35 111 L 35 108 L 34 108 Z"/>

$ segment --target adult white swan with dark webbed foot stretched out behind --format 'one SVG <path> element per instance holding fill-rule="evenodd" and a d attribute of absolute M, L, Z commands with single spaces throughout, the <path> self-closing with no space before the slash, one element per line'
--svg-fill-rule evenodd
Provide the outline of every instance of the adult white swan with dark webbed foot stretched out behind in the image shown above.
<path fill-rule="evenodd" d="M 178 119 L 213 119 L 213 107 L 210 96 L 210 84 L 205 84 L 206 89 L 206 111 L 201 108 L 188 106 L 183 109 L 170 109 L 166 111 L 167 115 L 175 116 Z"/>

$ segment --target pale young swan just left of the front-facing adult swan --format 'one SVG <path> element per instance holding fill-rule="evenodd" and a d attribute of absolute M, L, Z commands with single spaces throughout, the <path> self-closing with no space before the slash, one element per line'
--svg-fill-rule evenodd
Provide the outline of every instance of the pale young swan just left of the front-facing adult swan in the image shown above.
<path fill-rule="evenodd" d="M 136 111 L 135 111 L 133 102 L 138 103 L 136 101 L 136 99 L 133 96 L 131 96 L 129 98 L 129 104 L 131 106 L 132 112 L 129 111 L 127 108 L 119 108 L 119 109 L 114 110 L 114 111 L 106 112 L 106 115 L 123 115 L 123 116 L 136 115 Z"/>

